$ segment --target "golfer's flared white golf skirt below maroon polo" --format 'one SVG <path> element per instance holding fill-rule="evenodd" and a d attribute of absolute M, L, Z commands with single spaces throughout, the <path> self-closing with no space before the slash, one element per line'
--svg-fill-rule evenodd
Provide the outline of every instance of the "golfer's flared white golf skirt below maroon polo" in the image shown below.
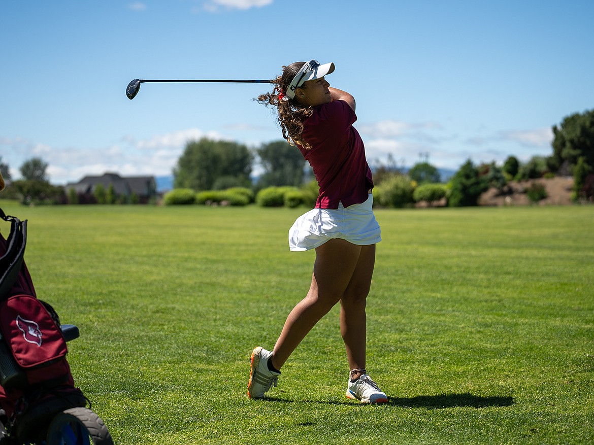
<path fill-rule="evenodd" d="M 311 250 L 340 238 L 359 246 L 381 241 L 380 225 L 373 214 L 373 195 L 362 204 L 337 209 L 312 209 L 301 215 L 289 229 L 289 249 L 294 252 Z"/>

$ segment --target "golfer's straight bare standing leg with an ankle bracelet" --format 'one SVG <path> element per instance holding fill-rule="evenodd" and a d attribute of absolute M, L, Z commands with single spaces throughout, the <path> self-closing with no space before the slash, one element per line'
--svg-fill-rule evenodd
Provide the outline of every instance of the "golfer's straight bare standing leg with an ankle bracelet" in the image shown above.
<path fill-rule="evenodd" d="M 375 265 L 375 244 L 362 246 L 359 262 L 340 300 L 340 333 L 345 341 L 349 367 L 365 369 L 365 304 Z M 357 378 L 361 373 L 355 373 Z"/>

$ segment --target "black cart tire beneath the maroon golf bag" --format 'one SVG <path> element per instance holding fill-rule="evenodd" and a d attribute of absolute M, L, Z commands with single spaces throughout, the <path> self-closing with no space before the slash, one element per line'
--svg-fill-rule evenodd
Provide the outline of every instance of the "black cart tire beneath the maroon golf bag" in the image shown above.
<path fill-rule="evenodd" d="M 75 441 L 65 441 L 66 437 Z M 48 428 L 48 445 L 65 443 L 113 445 L 108 428 L 89 408 L 71 408 L 58 413 Z"/>

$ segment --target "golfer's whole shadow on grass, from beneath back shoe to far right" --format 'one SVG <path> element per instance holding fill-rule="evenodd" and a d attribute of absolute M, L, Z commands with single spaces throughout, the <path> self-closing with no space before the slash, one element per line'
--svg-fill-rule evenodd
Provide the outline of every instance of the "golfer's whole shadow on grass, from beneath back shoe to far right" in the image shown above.
<path fill-rule="evenodd" d="M 288 400 L 267 397 L 263 400 L 280 403 L 323 403 L 324 405 L 356 405 L 358 402 L 352 400 Z M 440 394 L 435 396 L 416 396 L 416 397 L 388 397 L 388 403 L 382 403 L 381 406 L 400 406 L 401 408 L 428 408 L 444 409 L 455 408 L 459 406 L 469 406 L 472 408 L 486 408 L 488 406 L 511 406 L 514 404 L 513 397 L 481 397 L 470 393 L 463 394 Z M 364 404 L 361 404 L 363 406 Z"/>

